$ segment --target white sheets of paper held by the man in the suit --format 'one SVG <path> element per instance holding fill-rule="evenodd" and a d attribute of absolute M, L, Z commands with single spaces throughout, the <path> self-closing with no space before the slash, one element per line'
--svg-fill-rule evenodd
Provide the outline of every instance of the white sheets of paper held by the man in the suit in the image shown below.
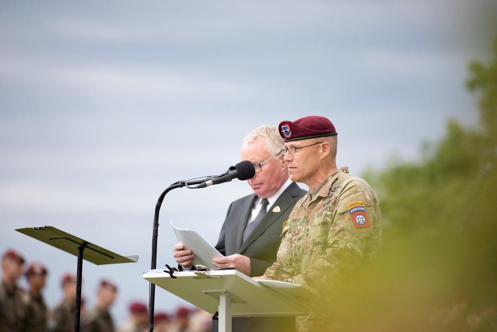
<path fill-rule="evenodd" d="M 171 220 L 171 226 L 176 233 L 179 242 L 183 243 L 185 248 L 190 249 L 195 254 L 193 265 L 204 265 L 208 269 L 215 269 L 212 265 L 213 257 L 223 257 L 207 240 L 196 230 L 177 228 Z"/>

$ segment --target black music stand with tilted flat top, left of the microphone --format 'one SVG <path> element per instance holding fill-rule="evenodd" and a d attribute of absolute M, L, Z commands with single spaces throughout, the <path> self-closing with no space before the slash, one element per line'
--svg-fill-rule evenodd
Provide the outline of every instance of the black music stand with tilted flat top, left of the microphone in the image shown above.
<path fill-rule="evenodd" d="M 76 312 L 74 322 L 75 332 L 80 331 L 83 250 L 86 249 L 84 251 L 84 259 L 96 265 L 135 263 L 138 261 L 138 255 L 118 255 L 52 226 L 19 228 L 16 230 L 78 257 L 78 270 L 76 274 Z"/>

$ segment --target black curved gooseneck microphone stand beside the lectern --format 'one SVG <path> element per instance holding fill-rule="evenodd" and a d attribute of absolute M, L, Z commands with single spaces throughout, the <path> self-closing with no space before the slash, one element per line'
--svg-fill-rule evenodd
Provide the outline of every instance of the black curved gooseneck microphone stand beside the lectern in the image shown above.
<path fill-rule="evenodd" d="M 161 210 L 162 202 L 166 194 L 172 189 L 182 188 L 184 186 L 197 185 L 206 180 L 210 180 L 212 177 L 207 177 L 202 180 L 194 181 L 178 181 L 169 187 L 159 196 L 157 200 L 155 214 L 154 214 L 154 226 L 152 232 L 152 264 L 151 269 L 154 270 L 157 267 L 157 238 L 159 237 L 159 211 Z M 155 284 L 150 283 L 149 286 L 149 332 L 154 331 L 154 307 L 155 307 Z"/>

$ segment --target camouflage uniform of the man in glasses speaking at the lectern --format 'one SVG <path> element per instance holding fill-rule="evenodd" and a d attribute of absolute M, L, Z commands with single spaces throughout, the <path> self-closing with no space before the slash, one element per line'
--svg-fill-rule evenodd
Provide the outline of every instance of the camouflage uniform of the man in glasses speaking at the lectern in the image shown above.
<path fill-rule="evenodd" d="M 380 220 L 371 187 L 343 167 L 297 202 L 284 226 L 277 260 L 265 276 L 303 285 L 339 307 L 336 295 L 344 282 L 379 261 Z M 296 317 L 298 331 L 331 331 L 339 325 L 333 308 L 319 304 L 309 316 Z"/>

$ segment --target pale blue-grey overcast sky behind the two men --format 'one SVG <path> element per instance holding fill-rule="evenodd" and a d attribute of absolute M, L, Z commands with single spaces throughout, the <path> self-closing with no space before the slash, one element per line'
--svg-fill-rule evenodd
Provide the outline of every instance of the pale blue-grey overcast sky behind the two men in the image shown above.
<path fill-rule="evenodd" d="M 0 250 L 50 271 L 49 306 L 76 257 L 16 232 L 51 225 L 138 263 L 83 263 L 83 297 L 114 280 L 116 325 L 148 303 L 155 204 L 168 185 L 240 161 L 260 124 L 323 115 L 338 166 L 361 175 L 415 161 L 448 118 L 472 125 L 467 63 L 484 59 L 492 0 L 0 0 Z M 483 58 L 482 58 L 483 57 Z M 305 186 L 303 186 L 305 187 Z M 158 267 L 173 264 L 170 221 L 215 244 L 234 180 L 176 189 L 161 210 Z M 22 280 L 21 285 L 25 285 Z M 184 302 L 162 289 L 156 312 Z"/>

